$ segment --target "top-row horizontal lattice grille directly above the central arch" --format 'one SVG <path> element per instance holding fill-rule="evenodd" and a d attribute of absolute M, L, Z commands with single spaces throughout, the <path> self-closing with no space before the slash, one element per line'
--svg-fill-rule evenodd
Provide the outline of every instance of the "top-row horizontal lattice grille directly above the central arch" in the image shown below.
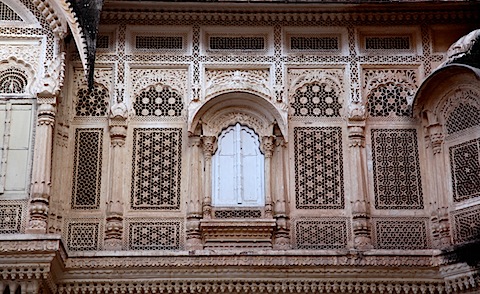
<path fill-rule="evenodd" d="M 265 38 L 211 36 L 209 48 L 211 50 L 264 50 Z"/>

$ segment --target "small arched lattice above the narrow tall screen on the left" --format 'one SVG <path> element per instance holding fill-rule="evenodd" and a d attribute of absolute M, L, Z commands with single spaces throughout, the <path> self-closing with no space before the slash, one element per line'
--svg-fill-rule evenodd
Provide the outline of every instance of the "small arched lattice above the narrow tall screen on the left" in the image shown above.
<path fill-rule="evenodd" d="M 77 93 L 76 116 L 105 116 L 108 107 L 108 90 L 99 85 L 93 89 L 82 88 Z"/>

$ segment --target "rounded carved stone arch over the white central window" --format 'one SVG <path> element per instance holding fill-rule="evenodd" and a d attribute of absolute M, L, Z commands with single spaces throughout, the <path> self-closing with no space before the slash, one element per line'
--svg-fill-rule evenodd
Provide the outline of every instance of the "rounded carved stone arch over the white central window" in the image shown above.
<path fill-rule="evenodd" d="M 286 119 L 277 108 L 270 101 L 247 92 L 226 93 L 210 99 L 192 115 L 188 130 L 195 134 L 201 125 L 201 135 L 217 136 L 236 122 L 252 128 L 260 136 L 273 135 L 277 124 L 284 139 L 288 139 Z"/>

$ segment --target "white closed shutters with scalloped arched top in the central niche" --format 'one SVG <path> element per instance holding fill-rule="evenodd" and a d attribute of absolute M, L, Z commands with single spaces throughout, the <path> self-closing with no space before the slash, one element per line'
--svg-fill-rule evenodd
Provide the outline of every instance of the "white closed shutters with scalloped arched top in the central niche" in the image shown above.
<path fill-rule="evenodd" d="M 258 135 L 237 123 L 225 129 L 213 155 L 213 206 L 265 205 L 264 155 Z"/>

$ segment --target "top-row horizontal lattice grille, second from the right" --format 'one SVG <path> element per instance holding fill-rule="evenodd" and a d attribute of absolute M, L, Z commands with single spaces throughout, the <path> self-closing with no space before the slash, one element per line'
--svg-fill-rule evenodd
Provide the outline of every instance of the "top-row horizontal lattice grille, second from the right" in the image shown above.
<path fill-rule="evenodd" d="M 291 36 L 292 51 L 337 51 L 339 38 L 334 36 Z"/>

